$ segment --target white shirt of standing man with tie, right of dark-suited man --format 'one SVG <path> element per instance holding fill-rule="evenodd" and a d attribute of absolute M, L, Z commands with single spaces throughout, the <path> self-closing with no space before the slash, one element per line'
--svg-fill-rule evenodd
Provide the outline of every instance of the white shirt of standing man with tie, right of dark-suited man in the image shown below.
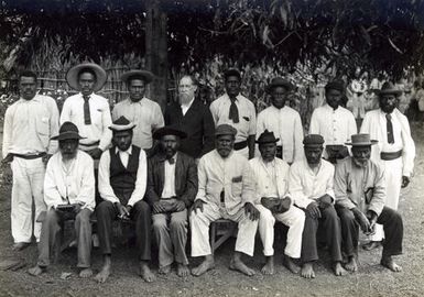
<path fill-rule="evenodd" d="M 257 133 L 257 111 L 254 105 L 244 96 L 239 94 L 236 98 L 236 106 L 239 111 L 238 123 L 232 122 L 232 120 L 228 118 L 231 100 L 227 94 L 210 103 L 210 113 L 213 114 L 215 127 L 226 123 L 237 129 L 237 143 L 246 141 L 249 135 Z"/>

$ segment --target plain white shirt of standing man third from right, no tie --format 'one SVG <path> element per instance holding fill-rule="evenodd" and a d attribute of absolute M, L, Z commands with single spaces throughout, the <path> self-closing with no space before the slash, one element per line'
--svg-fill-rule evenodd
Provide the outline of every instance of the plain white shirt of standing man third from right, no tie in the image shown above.
<path fill-rule="evenodd" d="M 270 106 L 258 114 L 257 139 L 263 131 L 274 132 L 280 139 L 276 145 L 283 146 L 283 160 L 287 163 L 301 160 L 303 151 L 303 128 L 301 116 L 291 107 L 278 109 Z"/>

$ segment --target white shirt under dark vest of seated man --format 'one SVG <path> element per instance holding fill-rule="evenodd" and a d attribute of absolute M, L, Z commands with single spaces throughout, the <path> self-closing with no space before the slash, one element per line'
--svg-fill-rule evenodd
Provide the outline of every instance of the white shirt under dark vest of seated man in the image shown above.
<path fill-rule="evenodd" d="M 132 146 L 128 148 L 127 152 L 119 152 L 119 157 L 127 156 L 127 164 L 124 160 L 121 158 L 122 165 L 128 166 L 129 155 L 132 154 Z M 99 193 L 100 197 L 112 204 L 120 202 L 119 198 L 115 195 L 112 187 L 110 186 L 110 151 L 105 151 L 101 154 L 99 162 Z M 144 197 L 145 187 L 148 184 L 148 162 L 145 153 L 143 150 L 140 150 L 139 156 L 139 168 L 137 170 L 137 180 L 134 191 L 131 194 L 131 198 L 128 200 L 129 206 L 133 206 L 135 202 L 140 201 Z"/>

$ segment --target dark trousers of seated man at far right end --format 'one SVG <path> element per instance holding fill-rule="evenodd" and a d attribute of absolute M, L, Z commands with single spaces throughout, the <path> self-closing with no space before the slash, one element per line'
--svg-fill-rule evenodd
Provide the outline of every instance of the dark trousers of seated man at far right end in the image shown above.
<path fill-rule="evenodd" d="M 359 223 L 350 209 L 338 207 L 337 213 L 341 222 L 341 246 L 347 256 L 358 255 Z M 398 211 L 384 207 L 377 223 L 384 229 L 383 256 L 402 253 L 403 221 Z"/>

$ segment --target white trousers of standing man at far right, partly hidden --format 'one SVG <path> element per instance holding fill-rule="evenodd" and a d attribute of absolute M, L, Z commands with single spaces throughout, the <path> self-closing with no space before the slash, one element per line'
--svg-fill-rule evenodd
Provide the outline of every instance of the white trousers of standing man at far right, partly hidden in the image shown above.
<path fill-rule="evenodd" d="M 384 166 L 385 175 L 385 204 L 384 206 L 391 209 L 398 210 L 399 196 L 401 195 L 402 187 L 402 157 L 398 157 L 391 161 L 381 161 Z M 382 224 L 376 224 L 376 233 L 371 235 L 372 241 L 381 241 L 384 238 L 384 231 Z"/>

